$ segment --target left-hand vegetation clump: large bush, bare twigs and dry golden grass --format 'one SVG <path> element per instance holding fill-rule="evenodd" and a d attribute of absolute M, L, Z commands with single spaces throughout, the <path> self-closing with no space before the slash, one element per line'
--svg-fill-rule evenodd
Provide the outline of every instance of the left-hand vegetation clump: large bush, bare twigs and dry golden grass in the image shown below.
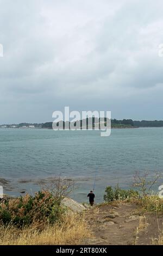
<path fill-rule="evenodd" d="M 90 232 L 84 215 L 62 202 L 73 182 L 56 178 L 33 196 L 3 198 L 0 202 L 2 245 L 76 245 Z"/>

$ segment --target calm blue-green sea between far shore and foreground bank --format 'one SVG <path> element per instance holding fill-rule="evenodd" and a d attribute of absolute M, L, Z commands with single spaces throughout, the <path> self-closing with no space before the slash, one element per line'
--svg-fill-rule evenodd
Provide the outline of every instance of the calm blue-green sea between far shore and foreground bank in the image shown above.
<path fill-rule="evenodd" d="M 100 131 L 0 129 L 0 178 L 5 192 L 39 190 L 41 180 L 72 178 L 72 197 L 86 202 L 95 186 L 96 202 L 107 185 L 129 188 L 136 171 L 163 173 L 163 128 Z"/>

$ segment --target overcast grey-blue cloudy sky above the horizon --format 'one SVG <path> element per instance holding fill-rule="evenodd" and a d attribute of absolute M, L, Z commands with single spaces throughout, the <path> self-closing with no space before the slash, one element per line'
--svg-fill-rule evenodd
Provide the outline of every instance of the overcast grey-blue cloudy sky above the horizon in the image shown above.
<path fill-rule="evenodd" d="M 163 2 L 0 0 L 0 123 L 163 119 Z"/>

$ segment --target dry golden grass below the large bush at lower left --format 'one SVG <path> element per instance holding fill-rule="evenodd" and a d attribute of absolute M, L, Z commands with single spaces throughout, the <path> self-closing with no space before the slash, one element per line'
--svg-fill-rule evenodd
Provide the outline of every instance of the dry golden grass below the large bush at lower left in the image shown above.
<path fill-rule="evenodd" d="M 45 225 L 37 229 L 37 223 L 18 229 L 12 224 L 1 225 L 1 245 L 78 245 L 90 237 L 84 215 L 69 213 L 61 224 Z"/>

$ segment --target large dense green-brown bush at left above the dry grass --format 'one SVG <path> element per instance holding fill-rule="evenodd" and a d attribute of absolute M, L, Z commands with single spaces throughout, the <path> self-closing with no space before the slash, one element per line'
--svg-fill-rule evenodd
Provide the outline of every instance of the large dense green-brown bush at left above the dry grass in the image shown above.
<path fill-rule="evenodd" d="M 5 200 L 0 205 L 0 221 L 24 227 L 32 223 L 54 223 L 61 220 L 65 208 L 49 191 L 26 194 L 24 197 Z"/>

